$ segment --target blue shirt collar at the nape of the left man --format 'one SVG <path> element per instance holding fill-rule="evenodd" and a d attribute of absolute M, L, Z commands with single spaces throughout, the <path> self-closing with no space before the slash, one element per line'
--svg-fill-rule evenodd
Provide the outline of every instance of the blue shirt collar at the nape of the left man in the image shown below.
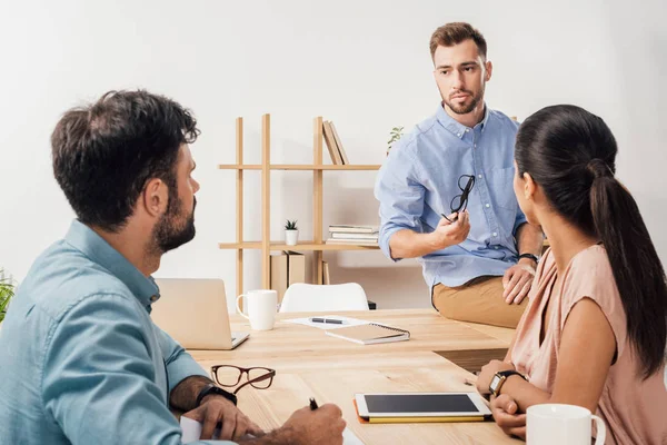
<path fill-rule="evenodd" d="M 141 274 L 90 227 L 74 219 L 64 239 L 93 263 L 120 279 L 148 310 L 150 310 L 151 303 L 157 301 L 160 297 L 158 286 L 152 277 Z"/>

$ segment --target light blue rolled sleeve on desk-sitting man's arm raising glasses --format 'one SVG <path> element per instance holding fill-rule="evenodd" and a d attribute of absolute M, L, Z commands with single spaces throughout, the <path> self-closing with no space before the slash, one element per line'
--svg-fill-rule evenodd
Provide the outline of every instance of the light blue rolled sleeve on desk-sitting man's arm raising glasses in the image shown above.
<path fill-rule="evenodd" d="M 419 180 L 419 166 L 410 156 L 409 140 L 395 147 L 380 168 L 375 186 L 376 199 L 380 202 L 379 246 L 387 258 L 391 256 L 389 239 L 402 229 L 422 231 L 425 188 Z"/>

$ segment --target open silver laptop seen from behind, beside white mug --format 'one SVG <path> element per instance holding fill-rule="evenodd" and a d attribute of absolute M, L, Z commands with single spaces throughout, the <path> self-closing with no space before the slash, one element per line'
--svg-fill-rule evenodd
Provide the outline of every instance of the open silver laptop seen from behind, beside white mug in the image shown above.
<path fill-rule="evenodd" d="M 221 279 L 159 278 L 156 284 L 160 299 L 150 316 L 186 349 L 233 349 L 248 338 L 231 332 Z"/>

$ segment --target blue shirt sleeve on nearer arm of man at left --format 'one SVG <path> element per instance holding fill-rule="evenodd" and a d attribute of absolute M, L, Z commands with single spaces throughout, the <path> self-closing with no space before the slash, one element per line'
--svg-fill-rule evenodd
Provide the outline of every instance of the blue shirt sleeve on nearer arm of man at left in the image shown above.
<path fill-rule="evenodd" d="M 147 339 L 152 333 L 140 310 L 127 297 L 94 295 L 54 322 L 43 352 L 41 395 L 47 417 L 70 443 L 182 443 L 166 388 L 155 380 Z M 175 347 L 169 356 L 175 376 L 195 369 L 183 354 Z M 197 442 L 207 443 L 231 444 Z"/>

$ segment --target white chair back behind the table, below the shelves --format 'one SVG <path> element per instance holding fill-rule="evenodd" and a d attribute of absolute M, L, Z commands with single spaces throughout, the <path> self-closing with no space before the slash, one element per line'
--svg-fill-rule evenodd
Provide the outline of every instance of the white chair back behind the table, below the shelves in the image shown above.
<path fill-rule="evenodd" d="M 287 288 L 281 313 L 368 310 L 364 288 L 357 283 L 344 285 L 307 285 L 295 283 Z"/>

